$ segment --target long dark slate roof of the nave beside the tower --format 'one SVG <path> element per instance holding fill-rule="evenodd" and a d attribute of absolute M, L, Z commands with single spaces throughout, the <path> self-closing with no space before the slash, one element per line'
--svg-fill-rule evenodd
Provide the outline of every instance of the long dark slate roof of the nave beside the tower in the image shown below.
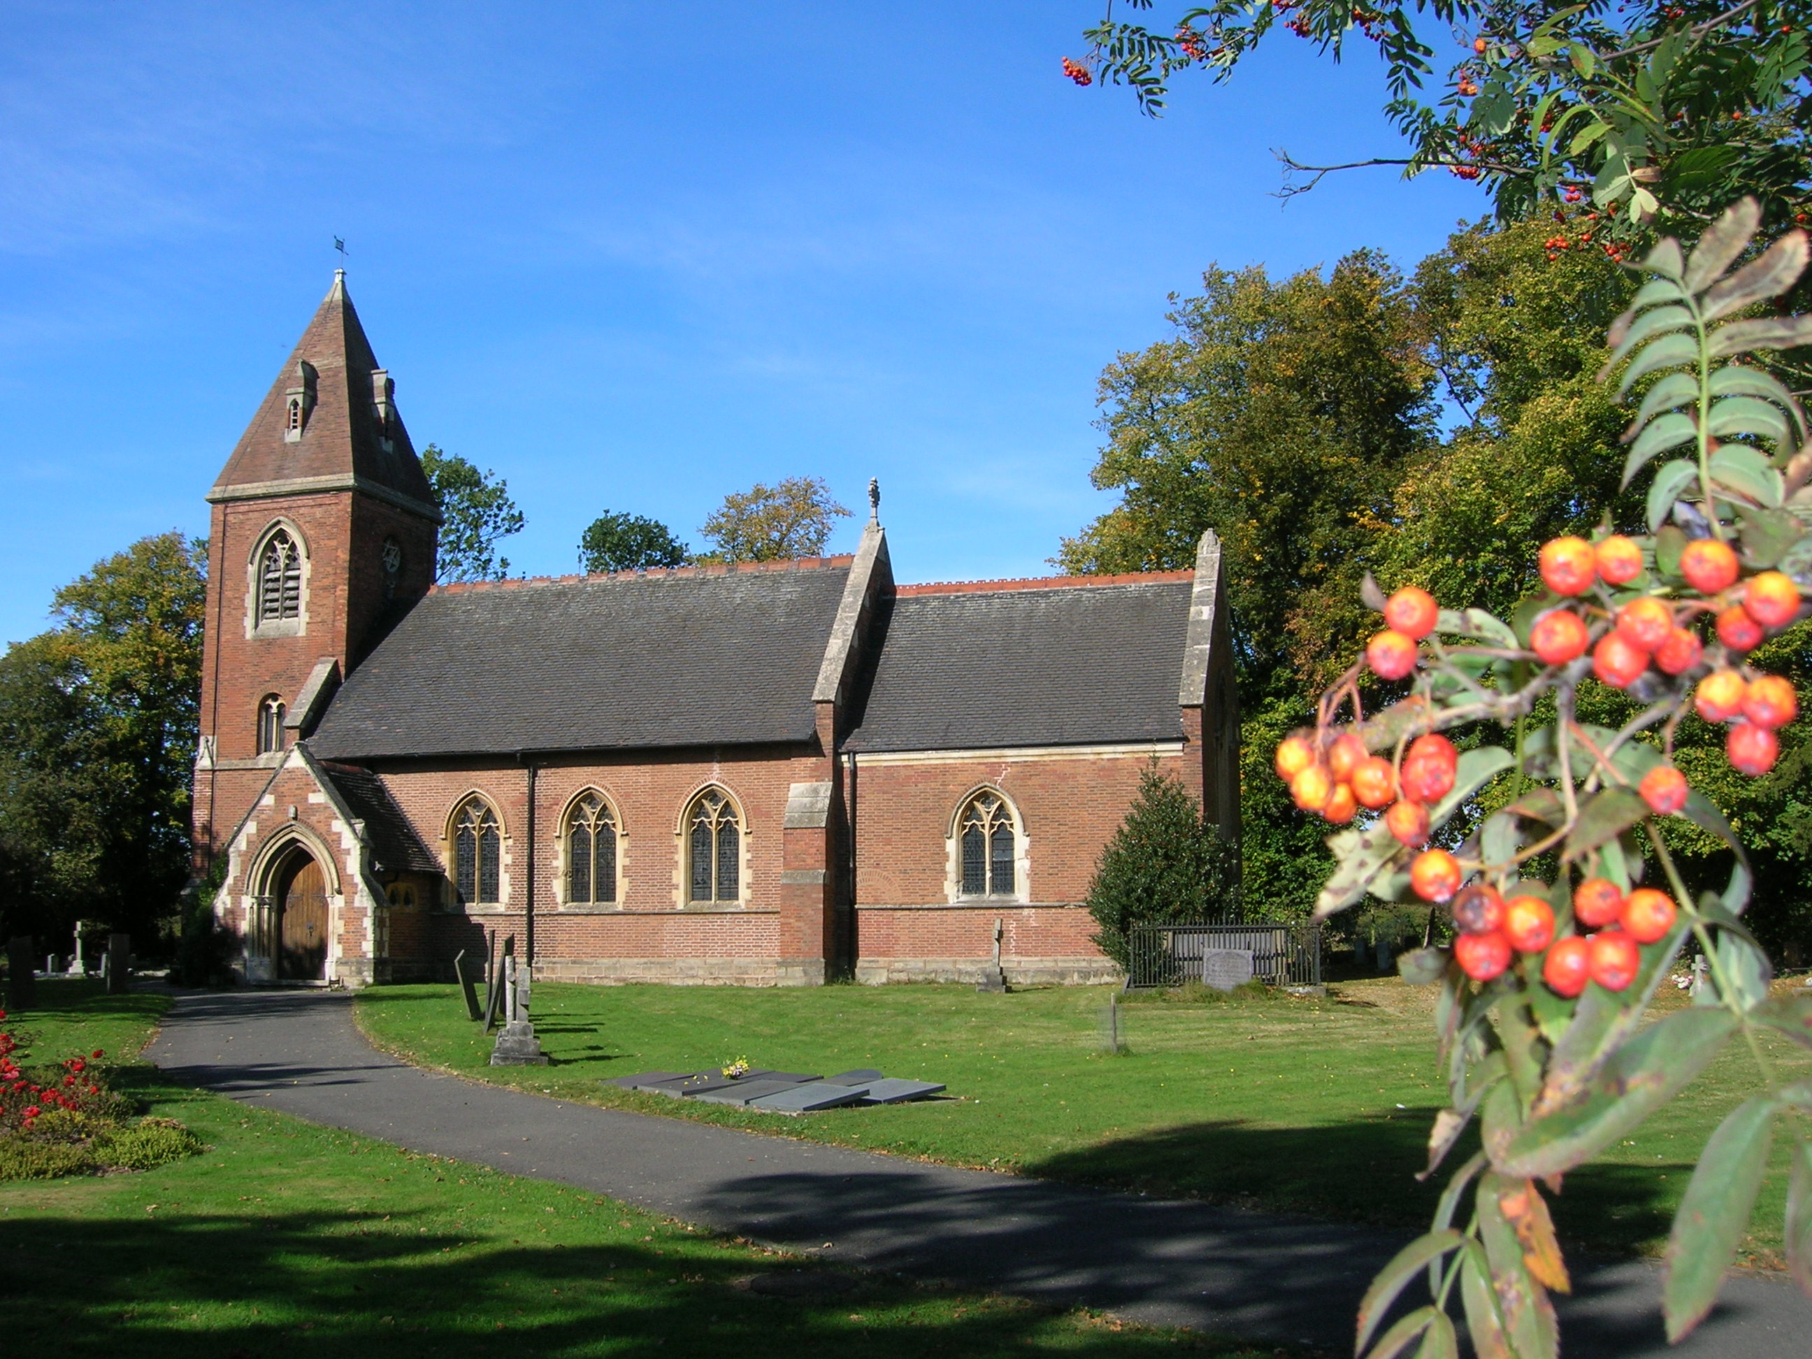
<path fill-rule="evenodd" d="M 361 761 L 810 741 L 848 574 L 843 556 L 442 587 L 348 676 L 308 745 Z"/>

